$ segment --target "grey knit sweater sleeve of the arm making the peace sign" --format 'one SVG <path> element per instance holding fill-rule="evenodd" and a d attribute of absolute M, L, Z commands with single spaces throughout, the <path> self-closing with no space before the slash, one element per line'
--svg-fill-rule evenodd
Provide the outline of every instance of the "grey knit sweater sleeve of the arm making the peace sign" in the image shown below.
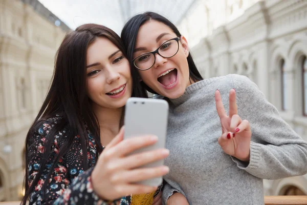
<path fill-rule="evenodd" d="M 307 142 L 284 121 L 265 95 L 245 76 L 232 75 L 238 115 L 250 122 L 249 163 L 234 157 L 238 168 L 263 179 L 307 173 Z"/>

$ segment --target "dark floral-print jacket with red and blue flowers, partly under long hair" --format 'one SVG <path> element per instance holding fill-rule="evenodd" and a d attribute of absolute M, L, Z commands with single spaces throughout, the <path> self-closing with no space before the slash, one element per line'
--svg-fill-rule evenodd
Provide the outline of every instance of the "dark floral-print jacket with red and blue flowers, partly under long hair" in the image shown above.
<path fill-rule="evenodd" d="M 43 151 L 46 149 L 44 142 L 46 135 L 57 123 L 59 116 L 50 118 L 45 121 L 36 131 L 29 141 L 28 159 L 29 159 L 29 185 L 32 184 L 41 165 Z M 59 152 L 59 148 L 67 138 L 67 130 L 57 132 L 53 138 L 52 153 L 47 161 L 45 169 L 35 190 L 30 195 L 29 204 L 120 204 L 130 205 L 130 196 L 121 199 L 106 202 L 95 194 L 91 183 L 91 173 L 95 165 L 96 147 L 95 140 L 90 134 L 89 146 L 87 147 L 87 159 L 89 160 L 90 169 L 84 170 L 81 158 L 82 150 L 79 142 L 79 136 L 74 138 L 70 150 L 66 152 L 55 164 L 52 175 L 47 183 L 45 195 L 42 194 L 42 185 L 52 168 L 53 160 Z"/>

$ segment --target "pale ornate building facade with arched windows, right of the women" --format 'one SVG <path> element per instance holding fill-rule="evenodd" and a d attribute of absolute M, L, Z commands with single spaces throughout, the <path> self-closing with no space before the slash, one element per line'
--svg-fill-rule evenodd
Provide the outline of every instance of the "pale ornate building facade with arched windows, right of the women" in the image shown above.
<path fill-rule="evenodd" d="M 216 3 L 196 2 L 194 9 L 202 12 L 191 11 L 180 24 L 203 77 L 248 76 L 307 140 L 307 1 L 230 0 L 218 2 L 218 7 Z M 204 27 L 189 28 L 196 20 Z M 307 175 L 265 180 L 265 192 L 307 195 Z"/>

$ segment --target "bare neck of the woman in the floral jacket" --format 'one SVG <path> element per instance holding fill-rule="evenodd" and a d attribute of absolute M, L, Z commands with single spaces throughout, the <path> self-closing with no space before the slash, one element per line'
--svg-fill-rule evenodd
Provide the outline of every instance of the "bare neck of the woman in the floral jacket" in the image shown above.
<path fill-rule="evenodd" d="M 103 108 L 95 105 L 93 110 L 99 122 L 101 144 L 106 146 L 120 130 L 123 107 Z"/>

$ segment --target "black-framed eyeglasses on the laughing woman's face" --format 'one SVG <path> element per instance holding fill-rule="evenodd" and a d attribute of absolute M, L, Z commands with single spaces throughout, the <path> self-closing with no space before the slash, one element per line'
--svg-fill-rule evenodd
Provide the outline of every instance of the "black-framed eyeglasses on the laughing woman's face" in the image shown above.
<path fill-rule="evenodd" d="M 153 64 L 156 62 L 156 53 L 165 58 L 170 58 L 177 54 L 179 50 L 179 39 L 180 37 L 172 38 L 167 40 L 167 42 L 163 43 L 161 46 L 157 48 L 157 50 L 144 53 L 136 58 L 134 58 L 133 64 L 139 70 L 148 70 Z"/>

